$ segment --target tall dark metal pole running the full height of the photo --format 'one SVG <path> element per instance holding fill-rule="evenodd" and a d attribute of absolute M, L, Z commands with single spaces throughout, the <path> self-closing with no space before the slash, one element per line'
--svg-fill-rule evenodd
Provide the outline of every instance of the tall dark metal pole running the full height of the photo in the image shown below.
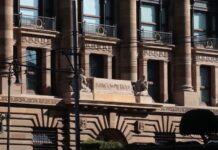
<path fill-rule="evenodd" d="M 79 67 L 77 52 L 77 20 L 76 20 L 76 0 L 72 1 L 73 12 L 73 54 L 74 54 L 74 112 L 75 112 L 75 131 L 76 131 L 76 150 L 80 150 L 80 116 L 79 116 Z"/>

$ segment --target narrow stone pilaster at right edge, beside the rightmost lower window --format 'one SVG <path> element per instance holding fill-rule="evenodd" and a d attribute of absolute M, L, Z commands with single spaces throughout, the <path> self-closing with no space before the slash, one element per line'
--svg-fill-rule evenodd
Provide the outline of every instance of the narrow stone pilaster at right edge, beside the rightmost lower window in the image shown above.
<path fill-rule="evenodd" d="M 211 75 L 211 105 L 216 106 L 218 103 L 218 66 L 212 67 L 212 75 Z"/>

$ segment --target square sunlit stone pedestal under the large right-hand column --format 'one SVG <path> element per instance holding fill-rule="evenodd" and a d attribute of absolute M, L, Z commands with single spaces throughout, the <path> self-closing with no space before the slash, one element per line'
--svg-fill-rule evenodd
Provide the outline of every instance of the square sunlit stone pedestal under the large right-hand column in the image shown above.
<path fill-rule="evenodd" d="M 175 104 L 180 106 L 199 106 L 199 96 L 197 92 L 179 91 L 174 95 Z"/>

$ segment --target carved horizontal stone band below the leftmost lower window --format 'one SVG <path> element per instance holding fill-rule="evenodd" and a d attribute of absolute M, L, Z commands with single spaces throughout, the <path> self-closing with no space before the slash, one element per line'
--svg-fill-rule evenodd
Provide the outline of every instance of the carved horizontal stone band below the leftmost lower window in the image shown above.
<path fill-rule="evenodd" d="M 57 105 L 61 99 L 53 98 L 34 98 L 32 97 L 15 97 L 11 96 L 11 103 L 21 103 L 21 104 L 37 104 L 37 105 Z M 1 96 L 0 102 L 8 102 L 7 96 Z"/>

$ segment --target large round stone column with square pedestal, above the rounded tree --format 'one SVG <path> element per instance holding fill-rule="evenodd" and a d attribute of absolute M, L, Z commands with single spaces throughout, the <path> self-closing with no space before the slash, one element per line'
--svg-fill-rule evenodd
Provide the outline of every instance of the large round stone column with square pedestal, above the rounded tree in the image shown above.
<path fill-rule="evenodd" d="M 175 95 L 178 105 L 197 105 L 191 73 L 191 14 L 190 0 L 177 1 L 175 8 Z"/>

